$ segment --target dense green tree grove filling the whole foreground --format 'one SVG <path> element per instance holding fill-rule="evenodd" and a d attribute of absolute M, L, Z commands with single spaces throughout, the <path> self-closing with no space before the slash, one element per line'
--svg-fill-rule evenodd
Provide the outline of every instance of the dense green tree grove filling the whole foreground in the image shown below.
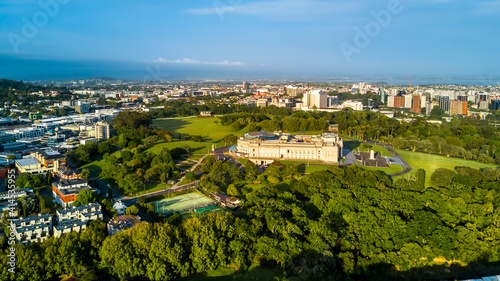
<path fill-rule="evenodd" d="M 217 168 L 223 161 L 207 163 L 211 170 L 231 171 Z M 298 280 L 466 279 L 470 273 L 460 265 L 500 261 L 500 169 L 457 167 L 441 187 L 422 190 L 358 167 L 294 173 L 286 166 L 266 172 L 266 187 L 247 193 L 235 214 L 143 224 L 106 239 L 95 222 L 81 234 L 18 245 L 18 257 L 30 258 L 20 259 L 15 279 L 4 269 L 2 280 L 89 270 L 108 278 L 173 280 L 252 263 L 275 264 L 284 277 Z M 450 265 L 454 270 L 446 270 Z M 486 276 L 489 270 L 473 272 Z"/>

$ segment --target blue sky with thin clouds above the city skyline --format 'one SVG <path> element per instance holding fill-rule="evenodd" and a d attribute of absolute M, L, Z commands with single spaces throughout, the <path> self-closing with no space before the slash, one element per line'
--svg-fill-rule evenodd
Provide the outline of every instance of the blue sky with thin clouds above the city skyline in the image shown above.
<path fill-rule="evenodd" d="M 2 0 L 0 26 L 18 80 L 500 76 L 498 0 Z"/>

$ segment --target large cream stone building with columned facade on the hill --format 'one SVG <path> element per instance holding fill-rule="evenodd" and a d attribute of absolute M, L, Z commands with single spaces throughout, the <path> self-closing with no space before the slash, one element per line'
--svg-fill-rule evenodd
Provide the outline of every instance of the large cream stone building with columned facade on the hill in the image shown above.
<path fill-rule="evenodd" d="M 343 146 L 342 139 L 335 134 L 292 136 L 254 132 L 241 137 L 231 153 L 256 164 L 274 160 L 338 163 L 342 159 Z"/>

